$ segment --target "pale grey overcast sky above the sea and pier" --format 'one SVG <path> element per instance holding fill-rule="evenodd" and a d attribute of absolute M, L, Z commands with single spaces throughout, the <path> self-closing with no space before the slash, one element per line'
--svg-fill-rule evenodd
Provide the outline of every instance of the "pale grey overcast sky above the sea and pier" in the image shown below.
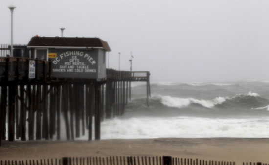
<path fill-rule="evenodd" d="M 0 0 L 0 43 L 99 37 L 153 81 L 269 80 L 269 0 Z"/>

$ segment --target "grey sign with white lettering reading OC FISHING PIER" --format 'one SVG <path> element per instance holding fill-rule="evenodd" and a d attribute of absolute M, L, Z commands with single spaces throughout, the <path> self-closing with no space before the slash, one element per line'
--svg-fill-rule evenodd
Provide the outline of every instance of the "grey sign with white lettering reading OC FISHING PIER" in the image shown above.
<path fill-rule="evenodd" d="M 51 77 L 97 78 L 98 50 L 55 50 L 53 53 L 57 56 L 51 58 Z"/>

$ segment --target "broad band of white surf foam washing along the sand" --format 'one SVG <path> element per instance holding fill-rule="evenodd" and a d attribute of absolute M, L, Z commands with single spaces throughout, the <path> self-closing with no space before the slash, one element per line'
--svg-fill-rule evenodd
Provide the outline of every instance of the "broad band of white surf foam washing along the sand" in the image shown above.
<path fill-rule="evenodd" d="M 198 117 L 114 118 L 101 123 L 102 139 L 136 138 L 269 138 L 269 117 L 211 119 Z M 79 139 L 88 138 L 85 136 Z"/>

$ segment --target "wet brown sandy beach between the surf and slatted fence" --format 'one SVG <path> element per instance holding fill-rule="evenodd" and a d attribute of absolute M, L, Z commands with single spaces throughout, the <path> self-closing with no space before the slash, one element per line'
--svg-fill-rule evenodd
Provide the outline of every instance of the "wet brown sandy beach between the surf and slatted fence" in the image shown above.
<path fill-rule="evenodd" d="M 99 141 L 2 142 L 0 160 L 86 156 L 163 156 L 204 160 L 269 162 L 269 139 L 158 138 Z"/>

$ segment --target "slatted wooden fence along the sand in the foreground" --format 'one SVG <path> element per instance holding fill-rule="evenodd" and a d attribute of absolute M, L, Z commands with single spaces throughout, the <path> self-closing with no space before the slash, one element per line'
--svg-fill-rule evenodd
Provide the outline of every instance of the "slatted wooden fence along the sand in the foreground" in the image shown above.
<path fill-rule="evenodd" d="M 201 160 L 171 156 L 64 157 L 41 160 L 1 160 L 0 165 L 235 165 L 234 161 Z M 242 165 L 242 163 L 240 163 Z M 248 163 L 243 162 L 243 165 Z M 249 162 L 249 165 L 268 165 Z"/>

